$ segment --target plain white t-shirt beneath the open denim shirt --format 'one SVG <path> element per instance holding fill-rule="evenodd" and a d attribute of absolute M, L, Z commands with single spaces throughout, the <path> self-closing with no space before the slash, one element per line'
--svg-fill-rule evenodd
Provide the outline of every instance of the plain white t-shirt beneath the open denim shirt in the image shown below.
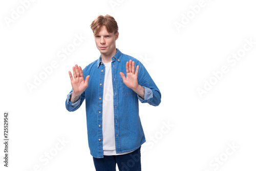
<path fill-rule="evenodd" d="M 131 152 L 116 153 L 115 127 L 114 127 L 114 102 L 111 63 L 104 63 L 105 77 L 103 84 L 102 106 L 102 132 L 103 132 L 103 155 L 123 155 Z"/>

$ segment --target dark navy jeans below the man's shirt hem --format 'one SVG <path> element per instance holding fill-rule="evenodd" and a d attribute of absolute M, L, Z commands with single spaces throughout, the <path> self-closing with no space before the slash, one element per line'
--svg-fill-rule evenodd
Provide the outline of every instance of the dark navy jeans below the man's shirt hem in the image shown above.
<path fill-rule="evenodd" d="M 119 171 L 141 171 L 140 147 L 132 153 L 124 155 L 93 157 L 96 171 L 115 171 L 116 164 Z"/>

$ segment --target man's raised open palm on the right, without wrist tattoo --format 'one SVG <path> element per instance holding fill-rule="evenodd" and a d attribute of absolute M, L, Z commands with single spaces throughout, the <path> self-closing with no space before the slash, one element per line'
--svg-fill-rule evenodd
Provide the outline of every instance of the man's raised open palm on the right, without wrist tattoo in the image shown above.
<path fill-rule="evenodd" d="M 136 67 L 135 71 L 135 63 L 134 61 L 130 60 L 126 62 L 126 78 L 122 72 L 120 75 L 123 79 L 123 83 L 130 89 L 136 90 L 139 87 L 138 84 L 138 73 L 139 73 L 139 66 Z"/>

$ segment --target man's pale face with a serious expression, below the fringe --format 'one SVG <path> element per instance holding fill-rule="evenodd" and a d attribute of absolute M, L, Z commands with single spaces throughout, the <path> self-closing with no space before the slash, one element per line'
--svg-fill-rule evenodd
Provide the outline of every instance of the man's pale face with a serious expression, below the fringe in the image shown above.
<path fill-rule="evenodd" d="M 99 32 L 94 36 L 97 49 L 100 51 L 101 55 L 112 55 L 116 53 L 116 40 L 118 38 L 118 32 L 109 33 L 105 26 L 99 29 Z M 112 56 L 111 56 L 112 57 Z"/>

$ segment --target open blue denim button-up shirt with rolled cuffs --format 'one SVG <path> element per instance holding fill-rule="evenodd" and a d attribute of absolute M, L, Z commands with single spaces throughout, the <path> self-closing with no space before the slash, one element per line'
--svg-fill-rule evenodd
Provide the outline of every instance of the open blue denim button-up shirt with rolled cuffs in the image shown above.
<path fill-rule="evenodd" d="M 126 87 L 119 74 L 122 72 L 126 77 L 126 62 L 130 59 L 135 61 L 135 68 L 139 65 L 138 83 L 145 90 L 144 99 Z M 142 63 L 132 56 L 121 53 L 118 49 L 112 57 L 111 68 L 116 153 L 131 152 L 146 141 L 139 117 L 139 101 L 157 106 L 161 102 L 161 93 Z M 88 88 L 75 103 L 70 102 L 73 91 L 71 90 L 66 100 L 66 109 L 70 112 L 76 111 L 85 99 L 90 153 L 95 158 L 103 158 L 102 97 L 105 69 L 101 56 L 82 71 L 84 79 L 90 75 Z"/>

